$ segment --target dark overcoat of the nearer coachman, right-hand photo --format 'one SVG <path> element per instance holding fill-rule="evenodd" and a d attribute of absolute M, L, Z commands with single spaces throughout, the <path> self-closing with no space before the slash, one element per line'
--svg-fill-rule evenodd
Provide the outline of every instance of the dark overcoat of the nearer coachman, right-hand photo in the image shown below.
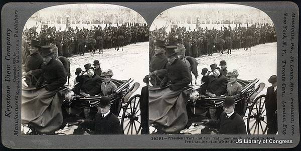
<path fill-rule="evenodd" d="M 167 74 L 163 79 L 163 83 L 170 83 L 171 90 L 184 88 L 190 81 L 188 67 L 182 60 L 177 58 L 171 65 L 168 65 Z"/>

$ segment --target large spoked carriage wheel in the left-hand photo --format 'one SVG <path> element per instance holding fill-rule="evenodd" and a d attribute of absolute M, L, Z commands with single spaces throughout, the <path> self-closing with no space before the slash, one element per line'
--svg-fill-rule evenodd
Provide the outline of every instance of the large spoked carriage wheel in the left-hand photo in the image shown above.
<path fill-rule="evenodd" d="M 141 132 L 140 95 L 132 96 L 123 110 L 121 125 L 124 134 L 139 134 Z"/>

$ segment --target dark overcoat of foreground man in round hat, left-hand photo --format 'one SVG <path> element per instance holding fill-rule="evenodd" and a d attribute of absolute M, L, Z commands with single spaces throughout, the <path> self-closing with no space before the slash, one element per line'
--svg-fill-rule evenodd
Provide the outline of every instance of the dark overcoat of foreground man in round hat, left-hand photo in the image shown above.
<path fill-rule="evenodd" d="M 92 125 L 94 134 L 123 134 L 119 119 L 112 112 L 104 118 L 102 113 L 97 112 L 94 120 L 85 120 L 81 126 Z"/>

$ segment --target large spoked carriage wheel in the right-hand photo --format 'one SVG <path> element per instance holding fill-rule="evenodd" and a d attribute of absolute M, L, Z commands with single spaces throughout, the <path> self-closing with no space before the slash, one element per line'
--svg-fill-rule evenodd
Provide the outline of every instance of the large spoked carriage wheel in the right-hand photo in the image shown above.
<path fill-rule="evenodd" d="M 265 94 L 256 97 L 249 108 L 247 119 L 248 134 L 265 134 L 267 132 L 265 98 Z"/>

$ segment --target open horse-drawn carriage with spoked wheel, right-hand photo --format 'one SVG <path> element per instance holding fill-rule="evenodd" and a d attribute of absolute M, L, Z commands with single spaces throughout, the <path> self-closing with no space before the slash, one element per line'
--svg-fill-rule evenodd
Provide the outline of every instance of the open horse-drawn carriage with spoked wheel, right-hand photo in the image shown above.
<path fill-rule="evenodd" d="M 234 95 L 235 102 L 245 102 L 246 104 L 241 106 L 243 110 L 244 120 L 246 121 L 247 133 L 248 134 L 265 134 L 267 132 L 266 126 L 266 110 L 265 110 L 265 94 L 257 96 L 260 91 L 264 88 L 264 83 L 255 84 L 259 79 L 254 80 L 237 80 L 243 88 L 238 94 Z M 198 111 L 201 109 L 207 109 L 209 107 L 221 107 L 224 103 L 225 96 L 208 97 L 201 95 L 203 84 L 195 88 L 192 86 L 185 87 L 183 91 L 187 94 L 187 112 L 188 118 L 193 120 L 195 124 L 202 124 L 201 121 L 197 121 L 199 118 L 193 118 L 198 116 Z M 151 93 L 149 95 L 152 95 Z M 151 118 L 151 117 L 150 117 Z M 203 118 L 204 119 L 204 118 Z M 157 122 L 150 123 L 152 126 L 157 128 L 151 133 L 158 133 L 162 125 L 158 125 Z M 216 129 L 215 129 L 216 130 Z M 201 132 L 202 133 L 202 132 Z"/>

